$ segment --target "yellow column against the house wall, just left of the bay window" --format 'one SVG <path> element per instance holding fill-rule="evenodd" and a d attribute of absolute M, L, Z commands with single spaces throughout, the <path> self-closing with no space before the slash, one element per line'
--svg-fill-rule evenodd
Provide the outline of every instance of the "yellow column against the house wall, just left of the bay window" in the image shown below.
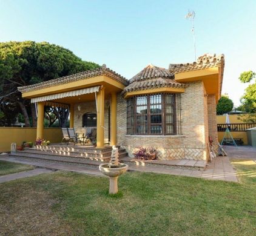
<path fill-rule="evenodd" d="M 110 145 L 116 145 L 116 93 L 111 93 Z"/>

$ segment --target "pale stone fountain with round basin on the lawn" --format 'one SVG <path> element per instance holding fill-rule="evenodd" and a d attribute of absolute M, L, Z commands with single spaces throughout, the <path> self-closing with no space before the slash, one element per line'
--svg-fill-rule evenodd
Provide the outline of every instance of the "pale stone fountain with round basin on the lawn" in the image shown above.
<path fill-rule="evenodd" d="M 127 169 L 128 165 L 118 162 L 118 148 L 113 145 L 109 163 L 99 165 L 99 170 L 104 175 L 109 176 L 109 194 L 116 194 L 118 192 L 118 176 L 126 172 Z"/>

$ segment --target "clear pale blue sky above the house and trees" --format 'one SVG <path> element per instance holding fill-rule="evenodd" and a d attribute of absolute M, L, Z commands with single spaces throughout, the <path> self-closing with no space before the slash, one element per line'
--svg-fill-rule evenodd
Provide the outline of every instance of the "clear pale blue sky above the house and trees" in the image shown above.
<path fill-rule="evenodd" d="M 149 63 L 194 61 L 189 9 L 197 56 L 225 54 L 223 93 L 239 105 L 238 77 L 256 71 L 256 1 L 0 0 L 0 41 L 58 44 L 130 79 Z"/>

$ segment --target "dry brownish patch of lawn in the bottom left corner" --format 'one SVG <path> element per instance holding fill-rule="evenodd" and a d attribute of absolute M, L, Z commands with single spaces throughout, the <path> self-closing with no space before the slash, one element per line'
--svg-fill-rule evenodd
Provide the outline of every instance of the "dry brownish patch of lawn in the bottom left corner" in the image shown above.
<path fill-rule="evenodd" d="M 0 185 L 0 235 L 72 234 L 67 223 L 60 220 L 53 211 L 53 207 L 58 205 L 58 199 L 41 189 L 44 182 L 40 179 L 39 182 L 36 177 L 32 181 L 30 179 Z M 58 183 L 56 177 L 55 182 Z"/>

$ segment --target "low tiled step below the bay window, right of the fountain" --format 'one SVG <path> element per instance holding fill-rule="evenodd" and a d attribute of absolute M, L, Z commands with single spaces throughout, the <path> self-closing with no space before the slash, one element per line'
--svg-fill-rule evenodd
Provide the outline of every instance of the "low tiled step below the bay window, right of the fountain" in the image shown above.
<path fill-rule="evenodd" d="M 204 160 L 140 160 L 132 159 L 130 157 L 121 157 L 120 162 L 128 165 L 136 166 L 162 166 L 164 168 L 175 168 L 175 169 L 191 169 L 191 170 L 204 170 L 206 168 L 206 162 Z"/>

